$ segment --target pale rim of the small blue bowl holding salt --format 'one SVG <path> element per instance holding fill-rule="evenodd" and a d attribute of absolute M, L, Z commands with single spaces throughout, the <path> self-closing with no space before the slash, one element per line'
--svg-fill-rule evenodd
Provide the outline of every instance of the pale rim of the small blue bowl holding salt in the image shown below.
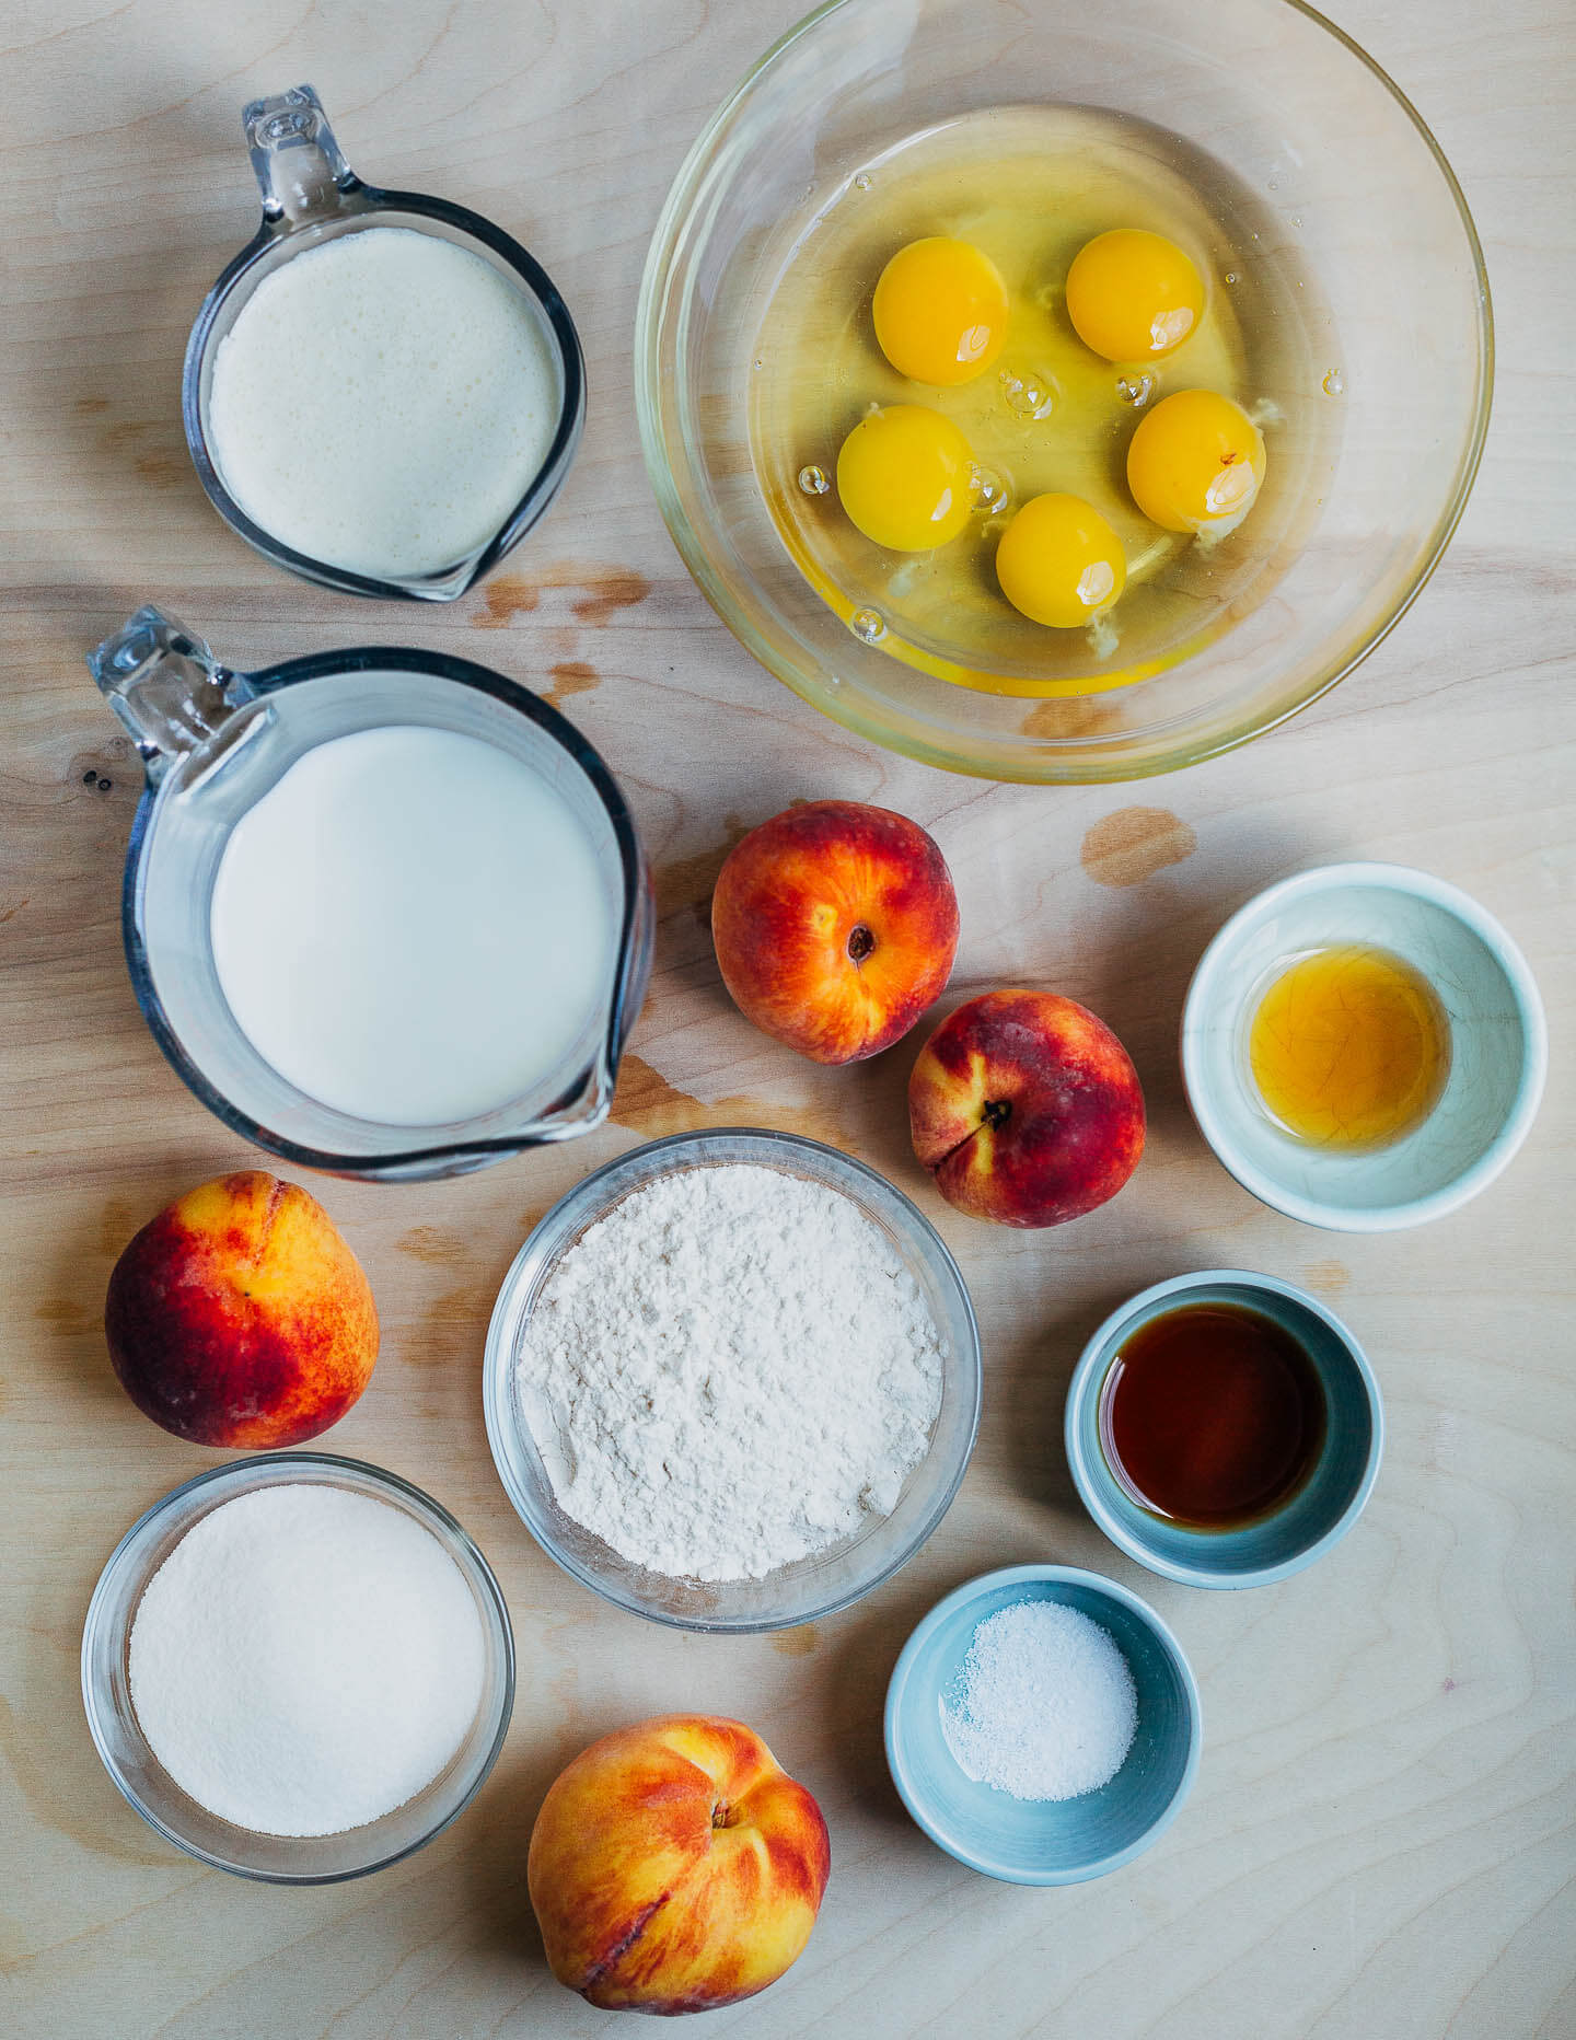
<path fill-rule="evenodd" d="M 920 1656 L 926 1652 L 930 1640 L 934 1638 L 942 1622 L 946 1622 L 958 1610 L 966 1608 L 970 1601 L 983 1599 L 987 1593 L 997 1593 L 1001 1587 L 1015 1587 L 1015 1585 L 1028 1587 L 1044 1583 L 1085 1587 L 1093 1593 L 1105 1595 L 1105 1599 L 1115 1601 L 1130 1614 L 1138 1616 L 1138 1620 L 1150 1630 L 1150 1634 L 1156 1638 L 1156 1642 L 1176 1669 L 1183 1685 L 1183 1699 L 1187 1712 L 1187 1758 L 1183 1763 L 1183 1775 L 1176 1781 L 1176 1789 L 1172 1791 L 1166 1805 L 1150 1822 L 1150 1826 L 1132 1842 L 1127 1842 L 1123 1848 L 1115 1848 L 1109 1854 L 1099 1856 L 1097 1860 L 1072 1871 L 1009 1869 L 1001 1856 L 987 1856 L 981 1850 L 973 1850 L 954 1842 L 948 1834 L 942 1832 L 940 1824 L 936 1822 L 936 1818 L 930 1814 L 928 1805 L 915 1791 L 903 1754 L 905 1750 L 903 1718 L 907 1705 L 909 1679 L 913 1677 L 913 1669 L 920 1663 Z M 1048 1565 L 1048 1563 L 1003 1565 L 991 1573 L 979 1573 L 975 1579 L 966 1579 L 960 1587 L 954 1587 L 952 1593 L 944 1595 L 930 1610 L 930 1614 L 922 1616 L 920 1622 L 913 1626 L 907 1642 L 897 1654 L 891 1679 L 887 1681 L 883 1734 L 887 1744 L 887 1771 L 891 1773 L 891 1781 L 897 1787 L 897 1797 L 907 1807 L 913 1824 L 924 1834 L 928 1834 L 938 1848 L 944 1848 L 948 1856 L 952 1856 L 956 1863 L 962 1863 L 970 1871 L 981 1871 L 985 1877 L 995 1877 L 1007 1885 L 1083 1885 L 1095 1877 L 1107 1877 L 1111 1871 L 1119 1871 L 1125 1863 L 1132 1863 L 1134 1856 L 1142 1856 L 1144 1850 L 1152 1848 L 1154 1842 L 1160 1840 L 1166 1828 L 1170 1828 L 1170 1824 L 1183 1812 L 1183 1803 L 1193 1791 L 1193 1781 L 1199 1775 L 1199 1756 L 1203 1750 L 1203 1701 L 1199 1699 L 1199 1681 L 1193 1677 L 1193 1667 L 1187 1661 L 1187 1652 L 1176 1642 L 1176 1636 L 1172 1634 L 1170 1626 L 1154 1612 L 1154 1608 L 1150 1608 L 1146 1599 L 1134 1593 L 1132 1587 L 1123 1587 L 1121 1581 L 1117 1579 L 1107 1579 L 1105 1573 L 1091 1573 L 1081 1565 Z"/>

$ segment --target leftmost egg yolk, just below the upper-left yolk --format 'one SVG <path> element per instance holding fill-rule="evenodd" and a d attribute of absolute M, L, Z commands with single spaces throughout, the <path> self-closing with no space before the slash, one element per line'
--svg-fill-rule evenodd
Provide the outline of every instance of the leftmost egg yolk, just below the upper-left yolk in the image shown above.
<path fill-rule="evenodd" d="M 968 441 L 950 418 L 924 404 L 889 404 L 844 439 L 838 496 L 873 545 L 928 553 L 968 522 L 973 467 Z"/>

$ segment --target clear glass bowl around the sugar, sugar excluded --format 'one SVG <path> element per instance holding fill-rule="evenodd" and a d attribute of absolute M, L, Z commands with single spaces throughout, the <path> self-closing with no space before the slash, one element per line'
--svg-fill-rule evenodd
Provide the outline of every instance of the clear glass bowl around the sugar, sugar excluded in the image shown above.
<path fill-rule="evenodd" d="M 320 1836 L 259 1834 L 220 1820 L 169 1777 L 130 1699 L 130 1632 L 149 1581 L 212 1510 L 265 1487 L 328 1485 L 387 1503 L 455 1563 L 483 1638 L 481 1699 L 459 1748 L 404 1805 Z M 259 1452 L 171 1489 L 120 1538 L 82 1632 L 82 1703 L 104 1769 L 151 1828 L 200 1863 L 271 1885 L 328 1885 L 387 1869 L 440 1834 L 477 1795 L 504 1746 L 514 1707 L 514 1636 L 491 1567 L 455 1518 L 381 1467 L 330 1452 Z"/>

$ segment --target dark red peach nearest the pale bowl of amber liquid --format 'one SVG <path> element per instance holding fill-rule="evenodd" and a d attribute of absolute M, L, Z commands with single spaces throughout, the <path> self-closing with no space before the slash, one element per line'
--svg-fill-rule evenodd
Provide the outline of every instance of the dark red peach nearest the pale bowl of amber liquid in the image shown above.
<path fill-rule="evenodd" d="M 1060 1226 L 1115 1197 L 1144 1153 L 1144 1091 L 1115 1034 L 1054 991 L 987 991 L 909 1077 L 913 1153 L 948 1204 Z"/>

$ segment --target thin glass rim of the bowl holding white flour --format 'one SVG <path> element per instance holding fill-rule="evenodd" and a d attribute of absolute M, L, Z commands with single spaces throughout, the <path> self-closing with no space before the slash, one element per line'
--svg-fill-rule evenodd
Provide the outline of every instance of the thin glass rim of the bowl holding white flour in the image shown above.
<path fill-rule="evenodd" d="M 612 1208 L 612 1202 L 606 1200 L 603 1195 L 601 1204 L 597 1206 L 597 1200 L 591 1197 L 589 1193 L 595 1191 L 597 1185 L 603 1185 L 608 1177 L 628 1169 L 630 1163 L 646 1161 L 656 1155 L 683 1157 L 683 1155 L 693 1155 L 695 1151 L 701 1151 L 703 1155 L 703 1151 L 720 1138 L 765 1140 L 771 1146 L 789 1153 L 801 1153 L 801 1155 L 807 1153 L 816 1157 L 830 1155 L 838 1167 L 846 1167 L 856 1177 L 869 1177 L 875 1183 L 879 1183 L 881 1189 L 891 1197 L 895 1197 L 899 1208 L 907 1212 L 917 1240 L 924 1244 L 926 1253 L 934 1257 L 936 1275 L 946 1287 L 954 1289 L 956 1299 L 962 1306 L 962 1322 L 966 1324 L 968 1330 L 966 1346 L 956 1355 L 954 1361 L 962 1391 L 968 1399 L 968 1430 L 962 1442 L 962 1450 L 958 1452 L 958 1463 L 952 1469 L 946 1487 L 936 1495 L 936 1501 L 932 1503 L 924 1522 L 917 1526 L 915 1536 L 897 1557 L 891 1559 L 889 1565 L 885 1565 L 862 1585 L 854 1585 L 846 1591 L 832 1593 L 828 1595 L 826 1601 L 818 1601 L 813 1608 L 805 1608 L 791 1616 L 767 1616 L 767 1618 L 752 1616 L 748 1620 L 728 1620 L 728 1618 L 695 1620 L 689 1616 L 671 1614 L 669 1610 L 648 1608 L 642 1601 L 636 1601 L 634 1597 L 620 1593 L 589 1567 L 581 1565 L 571 1552 L 559 1550 L 542 1536 L 542 1532 L 526 1514 L 528 1497 L 522 1497 L 522 1493 L 516 1489 L 508 1455 L 508 1438 L 512 1438 L 518 1428 L 514 1414 L 514 1395 L 512 1395 L 514 1344 L 518 1328 L 524 1322 L 518 1312 L 518 1293 L 530 1269 L 530 1263 L 538 1255 L 536 1246 L 538 1238 L 555 1222 L 563 1218 L 567 1206 L 579 1200 L 585 1200 L 585 1204 L 591 1208 L 585 1218 L 585 1226 L 595 1224 L 599 1216 L 606 1216 L 606 1212 Z M 675 1167 L 683 1167 L 683 1161 L 677 1161 Z M 771 1163 L 760 1163 L 758 1167 L 771 1167 Z M 654 1175 L 659 1173 L 665 1171 L 654 1171 L 650 1179 L 654 1179 Z M 811 1177 L 813 1181 L 824 1181 L 824 1177 L 816 1171 L 811 1171 Z M 850 1193 L 844 1189 L 842 1195 Z M 585 1228 L 581 1226 L 581 1230 Z M 557 1261 L 561 1253 L 563 1246 L 555 1248 L 550 1259 Z M 504 1275 L 504 1281 L 497 1287 L 497 1299 L 493 1304 L 491 1318 L 487 1320 L 487 1344 L 483 1348 L 483 1361 L 481 1361 L 481 1401 L 483 1401 L 483 1418 L 487 1424 L 487 1446 L 493 1455 L 493 1467 L 497 1471 L 500 1485 L 504 1487 L 504 1493 L 510 1499 L 510 1508 L 526 1526 L 536 1544 L 546 1552 L 546 1557 L 553 1559 L 553 1563 L 561 1567 L 561 1571 L 565 1571 L 571 1579 L 579 1581 L 579 1585 L 589 1587 L 591 1593 L 599 1595 L 603 1601 L 610 1601 L 614 1608 L 622 1608 L 624 1614 L 640 1616 L 646 1622 L 659 1622 L 665 1628 L 673 1630 L 685 1630 L 691 1634 L 722 1634 L 722 1636 L 752 1636 L 752 1634 L 763 1634 L 767 1630 L 789 1630 L 805 1622 L 820 1622 L 826 1616 L 834 1616 L 840 1610 L 850 1608 L 854 1601 L 864 1599 L 864 1595 L 873 1593 L 877 1587 L 885 1585 L 895 1573 L 899 1573 L 909 1563 L 909 1559 L 913 1559 L 915 1552 L 920 1552 L 924 1544 L 928 1544 L 930 1538 L 936 1534 L 936 1530 L 942 1524 L 942 1518 L 952 1508 L 958 1489 L 962 1487 L 962 1479 L 968 1471 L 968 1463 L 975 1457 L 975 1442 L 979 1438 L 979 1416 L 981 1416 L 983 1393 L 985 1393 L 985 1367 L 981 1359 L 979 1320 L 975 1318 L 975 1304 L 973 1297 L 968 1295 L 968 1283 L 962 1279 L 962 1269 L 952 1257 L 952 1251 L 948 1248 L 946 1240 L 932 1226 L 932 1222 L 926 1218 L 920 1206 L 905 1191 L 901 1191 L 897 1183 L 885 1177 L 879 1169 L 873 1169 L 871 1163 L 860 1161 L 856 1155 L 848 1155 L 842 1149 L 830 1146 L 826 1140 L 811 1140 L 807 1134 L 779 1132 L 777 1128 L 771 1126 L 699 1126 L 693 1128 L 691 1132 L 665 1134 L 659 1140 L 642 1140 L 638 1146 L 626 1149 L 622 1155 L 616 1155 L 612 1161 L 603 1163 L 599 1169 L 593 1169 L 589 1175 L 583 1175 L 577 1183 L 573 1183 L 563 1193 L 563 1197 L 559 1197 L 546 1212 L 542 1212 L 542 1216 L 536 1220 L 536 1224 L 522 1240 L 518 1255 L 510 1263 L 508 1273 Z M 924 1461 L 920 1461 L 920 1465 L 924 1465 Z M 726 1581 L 720 1581 L 718 1585 L 726 1585 Z"/>

